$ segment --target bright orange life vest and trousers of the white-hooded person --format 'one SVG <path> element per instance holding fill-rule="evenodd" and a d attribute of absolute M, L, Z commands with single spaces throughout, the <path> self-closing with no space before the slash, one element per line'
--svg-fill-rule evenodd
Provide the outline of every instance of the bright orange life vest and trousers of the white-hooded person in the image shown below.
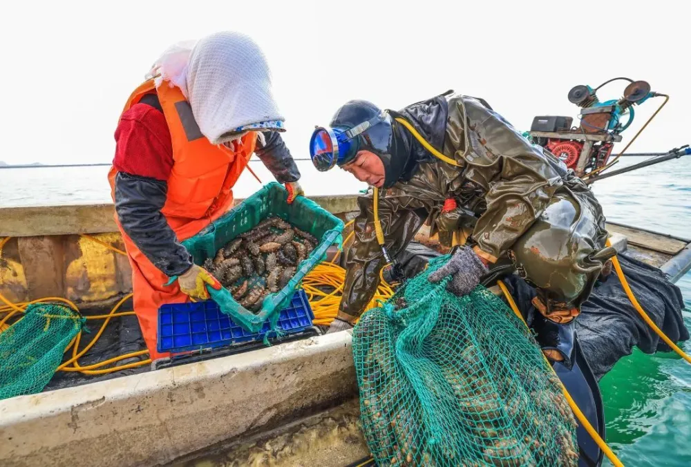
<path fill-rule="evenodd" d="M 185 240 L 233 206 L 233 186 L 254 153 L 257 134 L 250 132 L 231 151 L 214 146 L 202 135 L 192 115 L 192 109 L 180 88 L 163 82 L 158 88 L 153 80 L 144 82 L 129 97 L 123 113 L 140 102 L 147 94 L 156 93 L 171 133 L 173 168 L 167 180 L 167 200 L 161 213 L 178 240 Z M 108 182 L 115 201 L 115 175 L 111 167 Z M 115 215 L 117 222 L 117 214 Z M 156 351 L 158 308 L 164 303 L 182 303 L 187 295 L 180 292 L 178 283 L 164 286 L 169 278 L 149 261 L 122 230 L 127 254 L 132 266 L 134 311 L 152 359 L 165 356 Z"/>

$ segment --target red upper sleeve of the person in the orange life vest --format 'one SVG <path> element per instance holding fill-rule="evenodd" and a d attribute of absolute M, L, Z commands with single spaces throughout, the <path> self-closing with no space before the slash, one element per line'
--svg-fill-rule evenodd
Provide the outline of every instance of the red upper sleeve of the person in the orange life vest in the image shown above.
<path fill-rule="evenodd" d="M 173 167 L 173 143 L 163 113 L 135 104 L 115 130 L 113 166 L 120 172 L 167 181 Z"/>

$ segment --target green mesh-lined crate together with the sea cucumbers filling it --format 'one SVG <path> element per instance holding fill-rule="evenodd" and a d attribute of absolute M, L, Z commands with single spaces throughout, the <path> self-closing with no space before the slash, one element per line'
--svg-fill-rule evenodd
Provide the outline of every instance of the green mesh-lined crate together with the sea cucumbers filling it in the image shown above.
<path fill-rule="evenodd" d="M 304 196 L 288 204 L 271 182 L 182 245 L 223 285 L 209 294 L 234 323 L 259 332 L 269 321 L 278 332 L 279 312 L 342 233 L 339 218 Z"/>

